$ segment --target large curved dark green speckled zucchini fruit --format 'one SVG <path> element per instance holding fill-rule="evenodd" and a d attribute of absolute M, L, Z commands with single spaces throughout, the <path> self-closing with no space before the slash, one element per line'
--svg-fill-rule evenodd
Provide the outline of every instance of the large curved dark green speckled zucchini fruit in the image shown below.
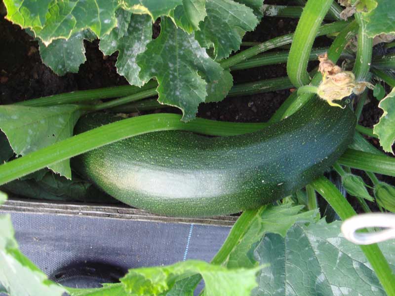
<path fill-rule="evenodd" d="M 119 119 L 90 113 L 75 132 Z M 355 124 L 350 108 L 314 99 L 254 133 L 214 138 L 148 133 L 89 151 L 72 163 L 133 207 L 168 216 L 217 216 L 270 203 L 313 181 L 345 151 Z"/>

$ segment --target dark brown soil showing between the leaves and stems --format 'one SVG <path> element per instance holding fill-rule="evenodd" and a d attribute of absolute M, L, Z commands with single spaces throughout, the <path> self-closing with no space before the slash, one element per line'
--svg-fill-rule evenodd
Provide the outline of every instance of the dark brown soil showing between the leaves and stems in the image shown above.
<path fill-rule="evenodd" d="M 265 1 L 267 4 L 281 4 L 281 1 Z M 286 4 L 287 1 L 282 1 Z M 0 6 L 1 6 L 0 2 Z M 1 11 L 1 9 L 0 9 Z M 289 18 L 265 17 L 257 30 L 247 33 L 245 41 L 265 41 L 270 38 L 291 33 L 295 30 L 297 20 Z M 158 24 L 153 29 L 158 36 Z M 53 95 L 74 90 L 94 89 L 107 86 L 127 84 L 125 78 L 117 74 L 115 62 L 117 54 L 103 56 L 98 49 L 98 40 L 85 42 L 87 61 L 80 66 L 77 74 L 57 76 L 42 64 L 38 43 L 19 26 L 12 25 L 0 16 L 0 104 L 11 104 L 41 96 Z M 316 46 L 327 46 L 330 39 L 320 37 Z M 312 67 L 316 63 L 312 63 Z M 266 66 L 232 73 L 236 83 L 259 79 L 286 76 L 285 64 Z M 263 122 L 267 121 L 290 90 L 227 98 L 220 103 L 201 104 L 198 116 L 209 119 Z M 378 122 L 382 111 L 377 107 L 377 100 L 371 101 L 363 109 L 360 124 L 372 127 Z M 175 109 L 169 109 L 175 111 Z M 167 110 L 168 111 L 168 110 Z M 176 110 L 177 111 L 177 110 Z M 372 143 L 379 148 L 376 140 Z M 382 177 L 395 184 L 394 178 Z"/>

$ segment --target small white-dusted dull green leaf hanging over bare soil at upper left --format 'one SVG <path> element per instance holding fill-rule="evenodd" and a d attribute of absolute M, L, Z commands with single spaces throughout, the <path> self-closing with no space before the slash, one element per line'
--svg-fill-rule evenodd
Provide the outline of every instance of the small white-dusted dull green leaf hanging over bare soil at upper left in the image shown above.
<path fill-rule="evenodd" d="M 55 39 L 48 46 L 39 39 L 42 62 L 60 76 L 77 73 L 79 65 L 86 61 L 83 40 L 92 41 L 95 35 L 89 30 L 73 34 L 69 39 Z"/>

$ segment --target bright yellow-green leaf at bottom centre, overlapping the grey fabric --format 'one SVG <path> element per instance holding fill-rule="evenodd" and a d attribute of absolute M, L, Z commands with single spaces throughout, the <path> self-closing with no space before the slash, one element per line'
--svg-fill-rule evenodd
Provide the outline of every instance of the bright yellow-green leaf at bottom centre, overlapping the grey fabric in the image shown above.
<path fill-rule="evenodd" d="M 205 284 L 205 296 L 249 296 L 257 284 L 260 267 L 227 269 L 204 261 L 188 260 L 169 266 L 130 269 L 120 281 L 136 296 L 157 296 L 168 291 L 180 277 L 199 273 Z"/>

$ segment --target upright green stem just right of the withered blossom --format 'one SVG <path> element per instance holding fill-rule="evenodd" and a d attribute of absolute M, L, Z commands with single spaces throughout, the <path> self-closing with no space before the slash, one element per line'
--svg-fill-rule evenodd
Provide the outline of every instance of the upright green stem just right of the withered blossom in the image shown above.
<path fill-rule="evenodd" d="M 372 61 L 373 38 L 366 35 L 365 24 L 360 18 L 359 13 L 356 13 L 355 17 L 356 21 L 359 23 L 359 29 L 353 72 L 355 74 L 356 81 L 366 81 L 369 74 L 370 63 Z"/>

